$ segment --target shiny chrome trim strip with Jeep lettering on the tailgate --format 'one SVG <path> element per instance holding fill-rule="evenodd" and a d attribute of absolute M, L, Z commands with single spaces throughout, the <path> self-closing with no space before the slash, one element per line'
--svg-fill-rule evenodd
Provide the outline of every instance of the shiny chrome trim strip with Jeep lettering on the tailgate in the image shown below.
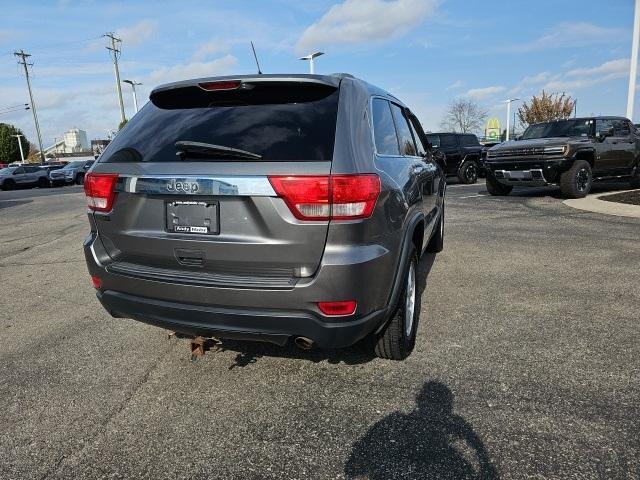
<path fill-rule="evenodd" d="M 116 191 L 162 195 L 276 197 L 265 176 L 122 175 Z"/>

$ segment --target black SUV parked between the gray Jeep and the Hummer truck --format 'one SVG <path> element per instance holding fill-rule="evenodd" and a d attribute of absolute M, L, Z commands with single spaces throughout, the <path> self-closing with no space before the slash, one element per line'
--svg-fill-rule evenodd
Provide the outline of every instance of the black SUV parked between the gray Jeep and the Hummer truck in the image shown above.
<path fill-rule="evenodd" d="M 470 133 L 428 133 L 429 143 L 442 152 L 447 176 L 458 177 L 461 183 L 476 183 L 482 173 L 482 145 Z"/>

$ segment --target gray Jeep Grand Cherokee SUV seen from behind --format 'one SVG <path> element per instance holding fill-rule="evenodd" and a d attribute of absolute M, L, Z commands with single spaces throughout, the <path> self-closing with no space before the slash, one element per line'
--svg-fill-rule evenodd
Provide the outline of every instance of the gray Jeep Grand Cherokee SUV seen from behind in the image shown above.
<path fill-rule="evenodd" d="M 403 359 L 443 172 L 398 99 L 350 75 L 156 88 L 85 179 L 102 305 L 193 336 Z"/>

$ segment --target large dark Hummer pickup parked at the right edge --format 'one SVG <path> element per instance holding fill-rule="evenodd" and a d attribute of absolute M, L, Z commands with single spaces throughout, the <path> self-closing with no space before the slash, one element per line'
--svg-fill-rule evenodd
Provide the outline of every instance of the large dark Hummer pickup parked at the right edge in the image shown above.
<path fill-rule="evenodd" d="M 640 136 L 622 117 L 586 117 L 530 125 L 519 141 L 487 152 L 487 191 L 508 195 L 514 186 L 558 185 L 582 198 L 594 181 L 626 179 L 640 188 Z"/>

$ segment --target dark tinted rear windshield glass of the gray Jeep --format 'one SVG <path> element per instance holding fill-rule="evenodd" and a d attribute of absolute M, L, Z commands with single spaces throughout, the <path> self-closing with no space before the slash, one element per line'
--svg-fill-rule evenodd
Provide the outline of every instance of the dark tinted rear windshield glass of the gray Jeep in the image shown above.
<path fill-rule="evenodd" d="M 332 86 L 287 82 L 247 83 L 233 91 L 191 86 L 158 92 L 99 161 L 179 161 L 178 141 L 239 149 L 259 155 L 260 161 L 331 160 L 338 95 Z M 185 157 L 192 159 L 230 160 L 215 152 Z"/>

